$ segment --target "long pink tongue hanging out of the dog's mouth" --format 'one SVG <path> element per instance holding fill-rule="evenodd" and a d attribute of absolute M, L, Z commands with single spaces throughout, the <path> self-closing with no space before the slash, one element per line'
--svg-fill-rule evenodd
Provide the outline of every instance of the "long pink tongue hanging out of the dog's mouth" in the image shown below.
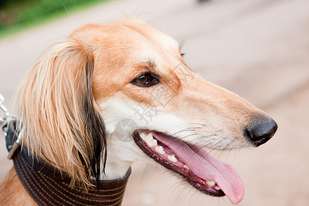
<path fill-rule="evenodd" d="M 238 204 L 244 198 L 244 185 L 236 170 L 229 164 L 222 163 L 211 157 L 203 148 L 190 148 L 183 141 L 152 134 L 156 139 L 172 149 L 175 155 L 204 180 L 213 180 L 221 187 L 229 201 Z"/>

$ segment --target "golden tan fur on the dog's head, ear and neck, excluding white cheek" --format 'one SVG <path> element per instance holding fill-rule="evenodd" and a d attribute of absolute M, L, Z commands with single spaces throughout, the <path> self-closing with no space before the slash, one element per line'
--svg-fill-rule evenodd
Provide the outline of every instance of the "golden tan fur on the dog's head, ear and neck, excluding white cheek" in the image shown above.
<path fill-rule="evenodd" d="M 147 64 L 148 58 L 153 61 L 153 67 Z M 84 117 L 80 106 L 86 87 L 84 67 L 89 59 L 94 61 L 93 96 L 98 112 L 98 104 L 117 93 L 137 104 L 159 106 L 149 95 L 153 88 L 130 84 L 140 73 L 155 71 L 161 77 L 158 88 L 165 87 L 173 95 L 168 106 L 161 108 L 163 113 L 203 122 L 209 127 L 217 124 L 226 133 L 225 138 L 238 139 L 239 147 L 247 146 L 241 134 L 244 126 L 255 115 L 263 115 L 238 95 L 202 80 L 184 64 L 179 44 L 154 27 L 136 20 L 85 25 L 36 63 L 21 84 L 16 99 L 19 128 L 23 129 L 22 143 L 47 163 L 67 172 L 71 185 L 78 183 L 85 188 L 90 185 L 90 171 L 85 169 L 90 165 L 92 139 L 81 135 Z M 174 71 L 181 62 L 192 79 L 181 80 Z M 0 194 L 1 205 L 33 203 L 14 170 L 1 183 Z M 14 198 L 17 194 L 18 198 Z"/>

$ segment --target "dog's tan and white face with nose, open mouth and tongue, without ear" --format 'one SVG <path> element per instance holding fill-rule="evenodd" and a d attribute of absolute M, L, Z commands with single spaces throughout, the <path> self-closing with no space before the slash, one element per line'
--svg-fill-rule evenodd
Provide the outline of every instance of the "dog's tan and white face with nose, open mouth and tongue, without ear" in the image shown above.
<path fill-rule="evenodd" d="M 109 179 L 143 159 L 143 150 L 198 190 L 241 201 L 244 191 L 236 171 L 203 148 L 259 146 L 277 129 L 270 117 L 201 79 L 185 65 L 179 43 L 154 27 L 138 21 L 86 25 L 71 37 L 93 47 L 93 95 L 113 157 L 107 159 Z"/>

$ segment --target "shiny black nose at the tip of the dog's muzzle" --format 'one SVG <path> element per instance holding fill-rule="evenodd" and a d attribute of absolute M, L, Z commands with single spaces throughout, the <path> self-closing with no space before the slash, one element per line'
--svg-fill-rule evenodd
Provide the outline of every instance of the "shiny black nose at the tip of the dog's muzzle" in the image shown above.
<path fill-rule="evenodd" d="M 278 128 L 277 123 L 270 117 L 260 117 L 252 123 L 245 131 L 245 136 L 254 146 L 260 146 L 271 139 Z"/>

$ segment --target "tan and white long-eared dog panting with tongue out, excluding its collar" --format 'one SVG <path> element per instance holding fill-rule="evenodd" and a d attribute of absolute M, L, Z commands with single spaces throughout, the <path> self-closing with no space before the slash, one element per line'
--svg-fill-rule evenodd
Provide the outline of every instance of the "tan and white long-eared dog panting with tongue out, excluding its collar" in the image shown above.
<path fill-rule="evenodd" d="M 198 76 L 177 41 L 139 19 L 84 25 L 56 43 L 21 84 L 14 114 L 19 151 L 60 171 L 71 188 L 123 179 L 134 161 L 151 159 L 233 204 L 244 197 L 242 181 L 207 150 L 257 147 L 277 130 L 266 113 Z M 40 205 L 16 170 L 0 185 L 1 205 Z"/>

